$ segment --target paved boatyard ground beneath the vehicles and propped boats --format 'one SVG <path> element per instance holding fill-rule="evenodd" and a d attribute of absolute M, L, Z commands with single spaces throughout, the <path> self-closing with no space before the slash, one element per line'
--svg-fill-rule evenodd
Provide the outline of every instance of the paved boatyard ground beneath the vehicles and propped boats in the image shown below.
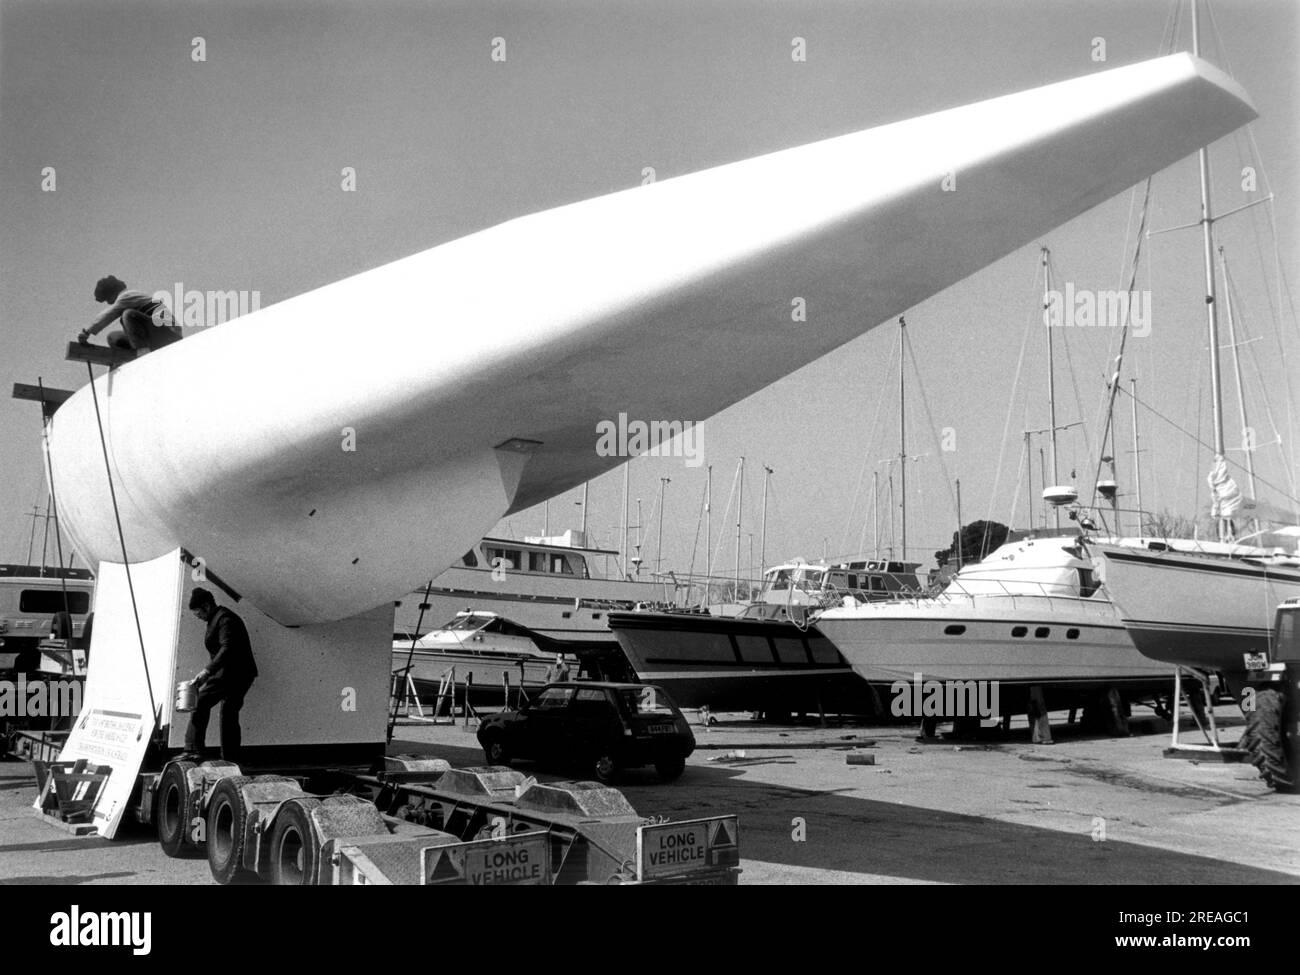
<path fill-rule="evenodd" d="M 1235 740 L 1240 714 L 1216 714 Z M 913 727 L 724 718 L 694 728 L 680 780 L 630 771 L 619 788 L 644 816 L 738 814 L 741 883 L 1300 883 L 1300 796 L 1249 764 L 1162 758 L 1169 725 L 1145 710 L 1128 738 L 1053 715 L 1052 745 L 1031 744 L 1023 719 L 1005 737 L 919 744 Z M 390 751 L 482 764 L 459 723 L 400 725 Z M 849 764 L 866 754 L 875 764 Z M 212 883 L 207 861 L 168 859 L 143 827 L 108 841 L 42 823 L 34 783 L 30 764 L 0 763 L 0 884 Z"/>

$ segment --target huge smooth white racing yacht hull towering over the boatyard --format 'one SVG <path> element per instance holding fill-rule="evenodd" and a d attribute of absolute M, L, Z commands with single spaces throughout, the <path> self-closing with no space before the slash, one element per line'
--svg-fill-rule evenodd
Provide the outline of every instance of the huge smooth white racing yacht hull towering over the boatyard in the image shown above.
<path fill-rule="evenodd" d="M 61 521 L 88 566 L 121 528 L 281 624 L 354 616 L 623 464 L 598 424 L 706 420 L 1254 116 L 1174 55 L 521 216 L 78 390 Z"/>

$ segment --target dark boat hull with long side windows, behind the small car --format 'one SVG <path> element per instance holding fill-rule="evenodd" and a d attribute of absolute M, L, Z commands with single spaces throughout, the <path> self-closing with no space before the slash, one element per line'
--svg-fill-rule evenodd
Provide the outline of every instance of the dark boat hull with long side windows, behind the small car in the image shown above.
<path fill-rule="evenodd" d="M 681 707 L 874 714 L 871 689 L 815 627 L 702 614 L 615 612 L 610 629 L 637 677 Z"/>

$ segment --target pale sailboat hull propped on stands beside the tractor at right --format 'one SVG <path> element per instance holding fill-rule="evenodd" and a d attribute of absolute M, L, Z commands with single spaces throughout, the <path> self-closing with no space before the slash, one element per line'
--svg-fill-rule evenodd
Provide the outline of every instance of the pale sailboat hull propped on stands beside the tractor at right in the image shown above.
<path fill-rule="evenodd" d="M 1244 672 L 1243 654 L 1270 645 L 1278 603 L 1300 597 L 1297 564 L 1139 543 L 1088 550 L 1104 560 L 1106 589 L 1138 649 L 1183 667 Z"/>

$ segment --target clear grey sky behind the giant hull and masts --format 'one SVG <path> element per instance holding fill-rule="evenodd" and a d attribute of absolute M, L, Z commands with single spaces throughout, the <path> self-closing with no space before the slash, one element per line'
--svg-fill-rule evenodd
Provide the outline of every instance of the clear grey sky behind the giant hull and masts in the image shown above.
<path fill-rule="evenodd" d="M 1191 43 L 1183 8 L 1176 49 Z M 4 0 L 5 391 L 38 376 L 68 389 L 84 382 L 83 368 L 64 361 L 64 343 L 101 307 L 91 291 L 107 273 L 151 292 L 178 282 L 259 291 L 268 306 L 510 217 L 637 185 L 645 166 L 663 179 L 1154 57 L 1164 53 L 1173 9 L 1166 0 Z M 1274 433 L 1283 441 L 1257 451 L 1261 476 L 1275 486 L 1260 494 L 1279 500 L 1294 494 L 1296 478 L 1283 448 L 1294 458 L 1300 442 L 1300 333 L 1278 278 L 1280 268 L 1300 282 L 1300 4 L 1227 0 L 1212 9 L 1204 53 L 1236 77 L 1261 116 L 1249 134 L 1212 150 L 1216 209 L 1277 195 L 1271 211 L 1230 217 L 1218 235 L 1232 266 L 1238 325 L 1256 339 L 1242 350 L 1251 422 L 1261 443 Z M 194 58 L 196 38 L 202 61 Z M 506 40 L 504 62 L 491 60 L 494 38 Z M 792 58 L 794 38 L 805 39 L 805 61 Z M 1105 61 L 1093 60 L 1097 38 Z M 355 192 L 339 190 L 344 166 L 356 172 Z M 1243 166 L 1261 173 L 1258 188 L 1243 188 Z M 55 170 L 52 192 L 43 187 L 47 168 Z M 1152 228 L 1195 221 L 1197 208 L 1195 160 L 1157 177 Z M 1124 194 L 1049 234 L 1043 243 L 1057 283 L 1122 287 L 1136 213 Z M 1209 458 L 1171 424 L 1209 438 L 1200 235 L 1165 234 L 1145 247 L 1150 260 L 1139 287 L 1153 295 L 1152 332 L 1131 342 L 1126 376 L 1138 376 L 1139 395 L 1164 419 L 1145 411 L 1139 419 L 1143 503 L 1191 515 L 1206 504 Z M 956 526 L 949 478 L 962 481 L 965 520 L 1011 519 L 1023 432 L 1048 425 L 1040 290 L 1032 244 L 907 312 L 920 372 L 919 386 L 909 378 L 907 452 L 919 458 L 909 462 L 914 558 L 948 545 Z M 356 341 L 389 316 L 434 316 L 437 308 L 436 292 L 420 308 L 387 307 L 377 295 Z M 714 545 L 724 566 L 734 558 L 736 529 L 734 508 L 724 519 L 723 507 L 741 455 L 742 562 L 750 533 L 758 558 L 763 464 L 775 471 L 768 563 L 818 558 L 823 549 L 848 555 L 859 541 L 871 547 L 872 472 L 888 484 L 883 460 L 898 452 L 890 325 L 705 425 Z M 1076 429 L 1062 434 L 1061 480 L 1076 471 L 1072 480 L 1087 494 L 1117 333 L 1056 334 L 1058 422 L 1082 417 L 1091 445 Z M 1227 360 L 1226 369 L 1231 378 Z M 1236 442 L 1231 382 L 1225 404 L 1228 441 Z M 1121 407 L 1117 456 L 1127 491 L 1127 400 Z M 956 450 L 941 448 L 945 428 Z M 34 404 L 0 400 L 0 560 L 26 555 L 25 514 L 44 504 L 39 432 Z M 650 514 L 659 478 L 672 478 L 664 562 L 686 568 L 703 468 L 645 458 L 632 463 L 630 477 L 633 521 L 641 498 L 650 564 L 658 530 Z M 592 528 L 612 546 L 621 495 L 621 471 L 592 484 Z M 552 533 L 577 526 L 578 497 L 551 502 Z M 1018 497 L 1014 521 L 1022 525 L 1023 482 Z M 498 530 L 536 534 L 542 525 L 536 508 Z M 39 552 L 39 530 L 36 537 Z M 702 547 L 696 558 L 698 569 Z"/>

